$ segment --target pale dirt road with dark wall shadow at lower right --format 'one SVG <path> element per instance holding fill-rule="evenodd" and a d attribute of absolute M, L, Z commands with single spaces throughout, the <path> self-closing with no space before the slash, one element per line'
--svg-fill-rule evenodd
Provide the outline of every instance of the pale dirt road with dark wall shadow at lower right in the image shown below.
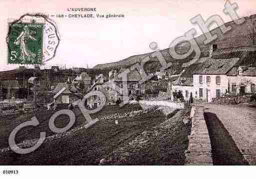
<path fill-rule="evenodd" d="M 256 109 L 215 104 L 204 104 L 204 109 L 217 163 L 256 165 Z"/>

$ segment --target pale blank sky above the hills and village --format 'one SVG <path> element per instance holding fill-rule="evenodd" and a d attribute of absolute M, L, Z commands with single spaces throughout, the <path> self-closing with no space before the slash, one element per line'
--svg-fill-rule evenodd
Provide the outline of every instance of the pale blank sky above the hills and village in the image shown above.
<path fill-rule="evenodd" d="M 159 49 L 168 48 L 177 37 L 195 28 L 190 22 L 201 14 L 206 20 L 220 15 L 225 22 L 231 18 L 223 12 L 226 0 L 0 0 L 0 71 L 19 65 L 7 64 L 7 19 L 25 13 L 44 14 L 124 14 L 124 18 L 56 18 L 60 44 L 53 59 L 46 63 L 66 67 L 93 67 L 132 55 L 152 52 L 151 42 Z M 256 14 L 256 0 L 231 0 L 239 6 L 240 16 Z M 93 12 L 71 12 L 67 8 L 96 8 Z M 216 27 L 213 25 L 211 28 Z M 27 66 L 31 67 L 31 66 Z"/>

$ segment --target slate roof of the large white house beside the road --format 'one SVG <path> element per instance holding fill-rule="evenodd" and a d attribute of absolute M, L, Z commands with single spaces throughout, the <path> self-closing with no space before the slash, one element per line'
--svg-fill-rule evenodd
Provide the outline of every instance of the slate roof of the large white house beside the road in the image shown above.
<path fill-rule="evenodd" d="M 207 59 L 193 74 L 227 74 L 239 58 Z"/>

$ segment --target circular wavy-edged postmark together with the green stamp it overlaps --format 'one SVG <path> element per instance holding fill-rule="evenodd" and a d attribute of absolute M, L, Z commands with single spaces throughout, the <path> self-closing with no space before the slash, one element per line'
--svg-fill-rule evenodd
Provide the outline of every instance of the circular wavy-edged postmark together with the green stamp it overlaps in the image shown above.
<path fill-rule="evenodd" d="M 47 15 L 24 14 L 8 22 L 8 64 L 41 65 L 55 56 L 59 34 Z"/>

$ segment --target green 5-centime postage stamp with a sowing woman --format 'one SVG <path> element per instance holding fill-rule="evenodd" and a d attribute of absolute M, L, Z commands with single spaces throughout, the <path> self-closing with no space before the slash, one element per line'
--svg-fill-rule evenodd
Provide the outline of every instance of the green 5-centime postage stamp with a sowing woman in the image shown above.
<path fill-rule="evenodd" d="M 42 64 L 43 23 L 9 23 L 8 28 L 8 63 Z"/>

